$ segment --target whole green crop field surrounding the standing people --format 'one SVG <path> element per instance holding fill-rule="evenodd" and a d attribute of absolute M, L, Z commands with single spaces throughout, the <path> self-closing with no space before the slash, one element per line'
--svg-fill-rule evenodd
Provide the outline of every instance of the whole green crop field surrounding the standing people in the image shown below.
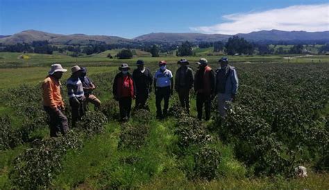
<path fill-rule="evenodd" d="M 199 53 L 207 50 L 198 50 Z M 178 105 L 174 93 L 169 116 L 133 111 L 118 121 L 112 80 L 121 62 L 135 68 L 138 59 L 155 71 L 159 60 L 175 74 L 179 58 L 151 58 L 143 52 L 130 60 L 108 53 L 66 55 L 0 53 L 0 189 L 329 189 L 329 58 L 326 55 L 231 56 L 239 91 L 226 119 L 196 119 Z M 218 56 L 206 57 L 218 67 Z M 188 57 L 196 71 L 199 57 Z M 310 60 L 312 59 L 312 60 Z M 321 60 L 321 61 L 319 61 Z M 40 83 L 53 62 L 69 69 L 86 66 L 102 101 L 64 137 L 49 137 L 41 105 Z M 62 77 L 65 85 L 69 71 Z M 71 121 L 66 88 L 62 96 Z M 307 167 L 307 178 L 294 175 Z"/>

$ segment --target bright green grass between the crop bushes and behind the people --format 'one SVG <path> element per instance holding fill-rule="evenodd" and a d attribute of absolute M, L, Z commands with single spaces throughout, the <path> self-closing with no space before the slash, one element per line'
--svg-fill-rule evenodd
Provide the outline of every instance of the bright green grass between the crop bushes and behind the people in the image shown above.
<path fill-rule="evenodd" d="M 199 53 L 206 53 L 208 50 L 198 50 Z M 137 59 L 143 59 L 147 67 L 155 68 L 158 60 L 167 60 L 169 68 L 173 73 L 177 69 L 177 60 L 179 58 L 170 57 L 136 57 L 131 60 L 109 60 L 106 58 L 108 51 L 89 57 L 76 58 L 78 64 L 87 66 L 89 74 L 100 74 L 103 72 L 116 72 L 117 66 L 121 62 L 128 62 L 132 68 Z M 137 52 L 136 52 L 137 53 Z M 8 64 L 15 60 L 19 53 L 0 53 L 0 64 Z M 75 58 L 63 55 L 28 55 L 31 58 L 28 60 L 32 65 L 40 64 L 43 67 L 19 67 L 0 69 L 0 88 L 8 89 L 18 87 L 22 84 L 37 85 L 40 83 L 49 71 L 49 65 L 52 62 L 64 63 L 65 67 L 76 64 Z M 228 56 L 233 64 L 237 62 L 287 62 L 283 59 L 286 55 L 264 55 L 264 56 Z M 218 56 L 207 56 L 212 67 L 217 67 Z M 329 57 L 325 55 L 316 55 L 314 58 L 329 62 Z M 199 57 L 187 57 L 191 66 L 196 68 L 196 62 Z M 296 58 L 299 63 L 310 62 L 310 58 Z M 291 61 L 295 61 L 291 60 Z M 18 60 L 22 61 L 22 60 Z M 32 63 L 32 61 L 35 63 Z M 1 63 L 2 62 L 2 63 Z M 99 63 L 100 62 L 100 63 Z M 25 63 L 22 63 L 25 64 Z M 108 67 L 95 67 L 106 65 Z M 21 65 L 23 66 L 23 65 Z M 1 66 L 0 66 L 1 67 Z M 69 71 L 62 77 L 65 81 L 69 77 Z M 112 81 L 108 81 L 110 85 Z M 110 94 L 110 92 L 108 92 Z M 101 97 L 101 100 L 109 98 L 109 96 Z M 171 103 L 177 99 L 177 95 L 171 98 Z M 149 101 L 151 103 L 151 113 L 155 116 L 155 98 L 152 94 Z M 1 105 L 1 103 L 0 103 Z M 328 111 L 328 107 L 326 112 Z M 8 107 L 0 107 L 0 114 L 14 113 Z M 196 116 L 195 97 L 191 98 L 191 114 Z M 15 118 L 15 117 L 14 117 Z M 19 121 L 19 119 L 17 119 Z M 211 122 L 206 123 L 211 125 Z M 131 124 L 136 124 L 134 121 L 129 121 Z M 309 178 L 293 178 L 285 180 L 280 176 L 273 178 L 246 178 L 246 169 L 243 164 L 238 162 L 233 154 L 233 147 L 223 145 L 220 142 L 212 144 L 220 150 L 222 160 L 219 166 L 221 175 L 219 178 L 211 181 L 194 181 L 189 180 L 185 173 L 181 170 L 182 167 L 189 167 L 189 159 L 191 156 L 177 157 L 175 155 L 177 147 L 174 135 L 175 121 L 171 118 L 163 121 L 153 120 L 151 130 L 146 139 L 146 143 L 140 150 L 120 149 L 117 147 L 119 142 L 119 133 L 121 131 L 121 123 L 111 121 L 106 126 L 106 132 L 101 135 L 96 135 L 90 139 L 85 139 L 81 150 L 69 150 L 62 162 L 62 172 L 53 180 L 52 189 L 108 189 L 108 188 L 132 188 L 138 187 L 141 189 L 329 189 L 327 182 L 329 174 L 327 173 L 312 173 L 308 171 Z M 19 125 L 17 123 L 16 125 Z M 35 131 L 33 137 L 47 137 L 48 129 Z M 10 180 L 8 173 L 12 167 L 12 160 L 19 153 L 25 150 L 26 146 L 19 146 L 12 150 L 0 151 L 0 189 L 10 189 Z M 131 158 L 137 158 L 136 162 L 128 162 Z"/>

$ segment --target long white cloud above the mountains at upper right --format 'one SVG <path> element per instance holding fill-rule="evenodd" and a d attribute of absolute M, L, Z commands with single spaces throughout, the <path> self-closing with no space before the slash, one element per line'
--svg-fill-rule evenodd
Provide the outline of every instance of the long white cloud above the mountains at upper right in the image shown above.
<path fill-rule="evenodd" d="M 329 31 L 329 3 L 223 15 L 227 20 L 213 26 L 190 27 L 200 33 L 237 34 L 253 31 Z"/>

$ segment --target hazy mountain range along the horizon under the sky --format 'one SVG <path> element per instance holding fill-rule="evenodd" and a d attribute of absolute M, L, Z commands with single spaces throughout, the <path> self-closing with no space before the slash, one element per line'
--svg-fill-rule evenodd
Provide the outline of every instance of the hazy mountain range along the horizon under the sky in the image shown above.
<path fill-rule="evenodd" d="M 329 31 L 305 32 L 305 31 L 257 31 L 252 33 L 239 33 L 252 42 L 329 42 Z M 138 42 L 158 42 L 174 44 L 178 42 L 216 42 L 226 41 L 233 35 L 203 34 L 203 33 L 149 33 L 133 39 L 108 35 L 62 35 L 43 31 L 27 30 L 13 35 L 0 35 L 0 43 L 17 44 L 31 43 L 33 41 L 48 40 L 51 44 L 90 44 L 91 42 L 105 42 L 106 44 L 129 44 Z"/>

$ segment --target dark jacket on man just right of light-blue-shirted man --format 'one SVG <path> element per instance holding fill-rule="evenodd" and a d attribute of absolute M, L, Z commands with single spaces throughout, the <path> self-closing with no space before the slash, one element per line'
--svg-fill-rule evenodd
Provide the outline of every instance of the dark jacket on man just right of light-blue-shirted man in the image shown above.
<path fill-rule="evenodd" d="M 178 92 L 178 89 L 184 88 L 184 89 L 191 89 L 193 87 L 194 82 L 194 76 L 193 76 L 193 70 L 189 67 L 185 70 L 184 76 L 181 74 L 183 67 L 179 67 L 176 71 L 175 76 L 175 89 Z M 183 78 L 184 77 L 184 78 Z M 180 85 L 181 80 L 185 80 L 185 84 L 182 86 Z"/>

